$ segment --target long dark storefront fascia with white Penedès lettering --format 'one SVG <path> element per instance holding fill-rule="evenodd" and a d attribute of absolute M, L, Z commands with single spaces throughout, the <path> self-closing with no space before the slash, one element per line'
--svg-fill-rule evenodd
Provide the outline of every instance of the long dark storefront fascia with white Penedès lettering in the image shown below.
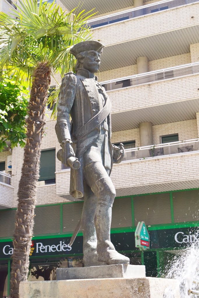
<path fill-rule="evenodd" d="M 197 231 L 198 227 L 149 231 L 150 249 L 187 247 L 193 242 L 199 242 Z M 30 257 L 82 254 L 83 236 L 76 237 L 72 246 L 69 245 L 70 239 L 71 237 L 36 240 L 33 238 Z M 113 233 L 111 241 L 118 252 L 136 250 L 134 232 Z M 0 259 L 10 258 L 12 254 L 12 241 L 0 242 Z"/>

